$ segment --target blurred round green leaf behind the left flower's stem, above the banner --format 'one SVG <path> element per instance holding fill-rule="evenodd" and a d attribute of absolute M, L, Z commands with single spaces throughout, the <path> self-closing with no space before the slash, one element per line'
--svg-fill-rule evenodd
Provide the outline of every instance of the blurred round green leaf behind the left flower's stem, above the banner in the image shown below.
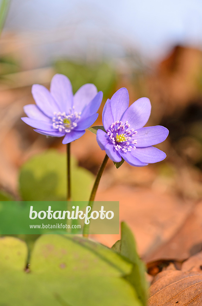
<path fill-rule="evenodd" d="M 66 200 L 66 154 L 48 150 L 29 159 L 20 170 L 19 188 L 25 201 Z M 87 201 L 94 176 L 71 157 L 73 201 Z"/>

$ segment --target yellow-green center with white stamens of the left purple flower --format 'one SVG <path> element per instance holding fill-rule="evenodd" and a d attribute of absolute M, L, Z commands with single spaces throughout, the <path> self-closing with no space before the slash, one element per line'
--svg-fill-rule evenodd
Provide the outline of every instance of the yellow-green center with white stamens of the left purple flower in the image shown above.
<path fill-rule="evenodd" d="M 81 113 L 77 113 L 73 108 L 70 108 L 69 113 L 54 112 L 52 118 L 52 127 L 59 132 L 70 133 L 77 126 L 77 121 L 81 118 Z"/>

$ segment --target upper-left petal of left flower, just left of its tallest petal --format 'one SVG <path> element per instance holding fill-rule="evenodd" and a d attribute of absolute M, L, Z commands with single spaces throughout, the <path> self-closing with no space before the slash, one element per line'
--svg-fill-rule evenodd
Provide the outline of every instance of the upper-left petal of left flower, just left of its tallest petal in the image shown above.
<path fill-rule="evenodd" d="M 49 118 L 52 118 L 54 112 L 59 112 L 60 107 L 53 99 L 49 90 L 42 85 L 34 84 L 31 89 L 34 100 L 39 109 L 46 114 Z"/>

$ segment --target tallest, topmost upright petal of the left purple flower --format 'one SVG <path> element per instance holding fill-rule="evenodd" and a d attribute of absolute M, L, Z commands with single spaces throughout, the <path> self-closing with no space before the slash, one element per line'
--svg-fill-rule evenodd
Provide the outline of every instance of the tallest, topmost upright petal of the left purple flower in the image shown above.
<path fill-rule="evenodd" d="M 58 103 L 60 111 L 69 112 L 73 106 L 73 92 L 68 77 L 59 73 L 55 74 L 51 80 L 50 92 Z"/>

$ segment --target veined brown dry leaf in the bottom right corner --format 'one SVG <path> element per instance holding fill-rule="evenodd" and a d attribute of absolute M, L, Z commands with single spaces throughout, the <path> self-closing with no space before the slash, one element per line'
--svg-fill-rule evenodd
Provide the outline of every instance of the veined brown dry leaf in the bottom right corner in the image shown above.
<path fill-rule="evenodd" d="M 202 305 L 202 273 L 163 271 L 150 287 L 148 306 Z"/>

